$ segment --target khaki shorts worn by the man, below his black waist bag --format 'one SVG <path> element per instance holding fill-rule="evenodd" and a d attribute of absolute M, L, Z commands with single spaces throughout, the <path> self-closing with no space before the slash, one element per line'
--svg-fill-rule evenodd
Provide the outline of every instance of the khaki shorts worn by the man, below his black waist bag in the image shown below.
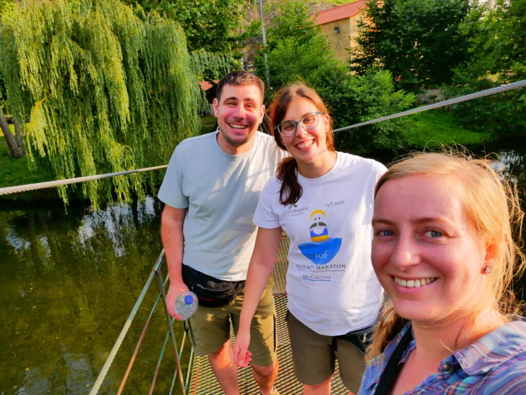
<path fill-rule="evenodd" d="M 250 346 L 252 363 L 258 366 L 269 366 L 276 361 L 277 331 L 276 310 L 272 298 L 270 279 L 261 295 L 250 326 Z M 239 328 L 239 316 L 243 304 L 242 291 L 228 305 L 221 307 L 199 306 L 197 311 L 185 321 L 185 330 L 192 342 L 196 355 L 208 355 L 221 348 L 230 339 L 230 321 L 234 333 Z"/>

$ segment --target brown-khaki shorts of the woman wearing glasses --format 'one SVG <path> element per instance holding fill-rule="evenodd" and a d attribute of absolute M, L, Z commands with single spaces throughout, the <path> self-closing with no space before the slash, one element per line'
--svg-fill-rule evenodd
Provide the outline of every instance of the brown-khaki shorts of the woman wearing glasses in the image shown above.
<path fill-rule="evenodd" d="M 349 341 L 338 339 L 338 350 L 331 347 L 332 336 L 319 335 L 287 312 L 294 373 L 302 384 L 313 386 L 328 379 L 338 360 L 340 377 L 349 391 L 358 393 L 365 371 L 365 356 Z"/>

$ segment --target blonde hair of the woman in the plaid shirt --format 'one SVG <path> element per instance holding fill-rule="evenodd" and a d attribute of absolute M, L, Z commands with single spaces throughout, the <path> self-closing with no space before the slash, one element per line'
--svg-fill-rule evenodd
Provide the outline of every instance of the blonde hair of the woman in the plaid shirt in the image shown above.
<path fill-rule="evenodd" d="M 491 160 L 476 159 L 456 150 L 418 153 L 392 165 L 380 177 L 375 188 L 376 197 L 389 180 L 419 175 L 440 177 L 444 185 L 452 177 L 461 181 L 462 203 L 472 226 L 492 255 L 490 281 L 486 289 L 480 290 L 478 307 L 469 313 L 464 328 L 473 325 L 479 312 L 488 307 L 498 313 L 504 322 L 509 322 L 518 312 L 510 287 L 513 276 L 522 272 L 526 265 L 519 245 L 514 242 L 521 239 L 524 212 L 520 207 L 516 183 L 509 183 L 494 167 L 495 163 Z M 407 320 L 400 317 L 392 303 L 388 302 L 383 307 L 373 342 L 367 349 L 367 361 L 383 352 L 405 322 Z"/>

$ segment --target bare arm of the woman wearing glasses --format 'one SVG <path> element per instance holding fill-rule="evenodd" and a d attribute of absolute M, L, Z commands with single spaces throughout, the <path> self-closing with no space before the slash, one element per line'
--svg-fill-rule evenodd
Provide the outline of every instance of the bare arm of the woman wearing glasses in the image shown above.
<path fill-rule="evenodd" d="M 276 262 L 276 254 L 281 238 L 281 228 L 258 228 L 256 245 L 248 266 L 245 297 L 239 318 L 239 329 L 234 343 L 234 362 L 246 366 L 248 345 L 250 343 L 250 323 L 265 290 L 268 279 Z"/>

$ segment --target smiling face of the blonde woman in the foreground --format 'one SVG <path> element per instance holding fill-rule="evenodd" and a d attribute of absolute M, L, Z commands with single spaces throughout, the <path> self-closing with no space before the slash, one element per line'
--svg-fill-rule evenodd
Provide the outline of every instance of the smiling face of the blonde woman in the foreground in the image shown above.
<path fill-rule="evenodd" d="M 371 260 L 403 318 L 438 323 L 478 306 L 485 289 L 485 243 L 453 177 L 388 180 L 375 199 Z"/>

